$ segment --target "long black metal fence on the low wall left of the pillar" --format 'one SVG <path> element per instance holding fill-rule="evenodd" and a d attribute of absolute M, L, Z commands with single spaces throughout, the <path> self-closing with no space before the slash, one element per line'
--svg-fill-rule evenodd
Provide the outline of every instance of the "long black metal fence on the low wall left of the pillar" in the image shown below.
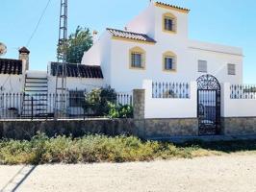
<path fill-rule="evenodd" d="M 27 94 L 27 93 L 0 93 L 0 119 L 51 119 L 51 118 L 89 118 L 102 117 L 93 110 L 87 101 L 87 94 L 72 92 L 65 94 L 66 107 L 62 111 L 61 94 Z M 116 105 L 133 105 L 132 94 L 117 93 L 114 98 L 103 98 Z M 100 108 L 100 101 L 94 101 Z"/>

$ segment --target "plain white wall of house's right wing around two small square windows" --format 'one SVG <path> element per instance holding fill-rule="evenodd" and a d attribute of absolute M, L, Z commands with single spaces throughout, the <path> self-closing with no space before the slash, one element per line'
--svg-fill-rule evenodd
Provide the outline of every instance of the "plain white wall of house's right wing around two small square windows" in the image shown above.
<path fill-rule="evenodd" d="M 195 79 L 205 74 L 197 72 L 198 60 L 206 60 L 207 73 L 215 76 L 219 83 L 243 84 L 242 49 L 194 40 L 190 40 L 188 46 Z M 236 75 L 227 74 L 228 63 L 236 64 Z"/>

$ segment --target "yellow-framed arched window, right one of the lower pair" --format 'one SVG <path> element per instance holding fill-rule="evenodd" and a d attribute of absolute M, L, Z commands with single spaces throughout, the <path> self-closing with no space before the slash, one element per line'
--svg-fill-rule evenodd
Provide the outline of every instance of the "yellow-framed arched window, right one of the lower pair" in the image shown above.
<path fill-rule="evenodd" d="M 171 51 L 163 54 L 163 70 L 176 71 L 177 70 L 177 56 Z"/>

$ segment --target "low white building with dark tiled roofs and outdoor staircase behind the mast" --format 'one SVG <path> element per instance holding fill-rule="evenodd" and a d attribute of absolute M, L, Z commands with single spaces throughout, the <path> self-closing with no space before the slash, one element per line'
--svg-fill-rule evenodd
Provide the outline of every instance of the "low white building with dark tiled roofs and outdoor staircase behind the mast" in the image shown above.
<path fill-rule="evenodd" d="M 19 60 L 0 59 L 0 119 L 52 117 L 54 108 L 59 108 L 55 94 L 58 63 L 50 62 L 47 71 L 29 70 L 29 54 L 22 47 Z M 67 114 L 84 114 L 81 106 L 85 92 L 103 86 L 101 67 L 67 63 L 66 76 Z"/>

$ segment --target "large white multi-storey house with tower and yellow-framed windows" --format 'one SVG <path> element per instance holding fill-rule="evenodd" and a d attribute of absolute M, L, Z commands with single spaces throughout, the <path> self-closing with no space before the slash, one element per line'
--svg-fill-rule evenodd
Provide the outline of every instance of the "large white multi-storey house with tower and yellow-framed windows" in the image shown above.
<path fill-rule="evenodd" d="M 117 91 L 149 79 L 191 82 L 212 74 L 219 83 L 243 83 L 243 50 L 189 39 L 190 10 L 152 2 L 125 30 L 107 29 L 82 64 L 101 66 L 104 84 Z"/>

